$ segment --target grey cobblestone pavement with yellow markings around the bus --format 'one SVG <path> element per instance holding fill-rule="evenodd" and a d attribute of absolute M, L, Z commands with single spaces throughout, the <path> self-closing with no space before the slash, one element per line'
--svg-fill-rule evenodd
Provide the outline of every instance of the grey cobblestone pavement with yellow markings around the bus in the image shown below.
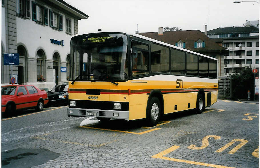
<path fill-rule="evenodd" d="M 259 165 L 258 104 L 219 100 L 199 115 L 189 111 L 164 116 L 155 127 L 142 121 L 69 118 L 67 107 L 33 112 L 2 118 L 2 153 L 20 148 L 59 154 L 40 165 L 35 161 L 35 168 Z M 96 123 L 79 126 L 85 119 Z"/>

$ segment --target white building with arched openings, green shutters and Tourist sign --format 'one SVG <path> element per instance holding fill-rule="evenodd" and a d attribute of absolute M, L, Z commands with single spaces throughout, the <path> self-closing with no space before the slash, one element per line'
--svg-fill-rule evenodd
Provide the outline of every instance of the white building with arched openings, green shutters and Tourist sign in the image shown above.
<path fill-rule="evenodd" d="M 70 39 L 78 20 L 89 16 L 63 0 L 2 0 L 2 85 L 51 89 L 69 77 Z M 4 65 L 4 54 L 18 53 L 19 65 Z"/>

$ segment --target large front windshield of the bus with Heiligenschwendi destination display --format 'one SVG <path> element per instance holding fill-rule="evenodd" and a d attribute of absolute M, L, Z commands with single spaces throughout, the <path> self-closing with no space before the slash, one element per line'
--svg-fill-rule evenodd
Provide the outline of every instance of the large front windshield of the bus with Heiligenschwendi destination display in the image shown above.
<path fill-rule="evenodd" d="M 70 80 L 127 80 L 127 36 L 95 33 L 73 37 L 70 63 Z"/>

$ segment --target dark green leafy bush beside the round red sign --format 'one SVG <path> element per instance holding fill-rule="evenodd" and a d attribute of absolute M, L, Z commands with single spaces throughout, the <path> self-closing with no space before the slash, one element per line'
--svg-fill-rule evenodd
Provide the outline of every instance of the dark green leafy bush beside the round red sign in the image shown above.
<path fill-rule="evenodd" d="M 254 73 L 251 67 L 243 68 L 239 73 L 232 73 L 233 96 L 237 99 L 247 99 L 247 91 L 250 91 L 250 98 L 254 99 Z"/>

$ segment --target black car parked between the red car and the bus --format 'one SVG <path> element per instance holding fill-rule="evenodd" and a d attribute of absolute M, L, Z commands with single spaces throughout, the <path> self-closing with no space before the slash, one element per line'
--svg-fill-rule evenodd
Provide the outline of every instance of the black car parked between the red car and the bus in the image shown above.
<path fill-rule="evenodd" d="M 68 97 L 68 87 L 69 85 L 56 85 L 54 86 L 51 91 L 48 91 L 48 106 L 58 105 L 58 104 L 69 104 L 69 97 Z"/>

